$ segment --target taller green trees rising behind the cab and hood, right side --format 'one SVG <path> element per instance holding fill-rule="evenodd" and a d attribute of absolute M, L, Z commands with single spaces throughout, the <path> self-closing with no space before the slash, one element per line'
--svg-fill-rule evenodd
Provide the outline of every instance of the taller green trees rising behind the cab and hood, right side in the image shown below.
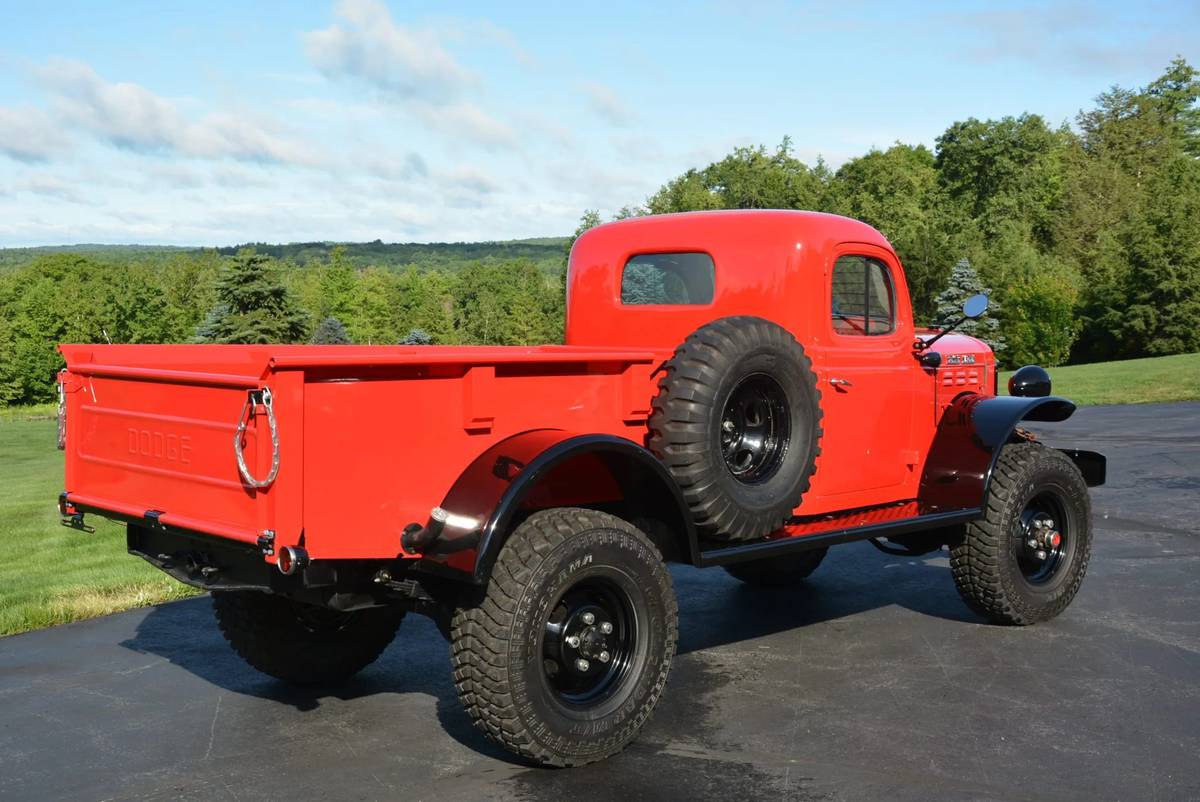
<path fill-rule="evenodd" d="M 988 289 L 1008 366 L 1200 351 L 1198 98 L 1196 71 L 1176 59 L 1145 88 L 1103 92 L 1074 126 L 968 119 L 934 150 L 896 143 L 836 170 L 803 163 L 785 138 L 690 169 L 617 217 L 772 208 L 862 220 L 896 249 L 919 321 L 954 309 L 947 291 Z M 589 213 L 582 227 L 599 222 Z"/>

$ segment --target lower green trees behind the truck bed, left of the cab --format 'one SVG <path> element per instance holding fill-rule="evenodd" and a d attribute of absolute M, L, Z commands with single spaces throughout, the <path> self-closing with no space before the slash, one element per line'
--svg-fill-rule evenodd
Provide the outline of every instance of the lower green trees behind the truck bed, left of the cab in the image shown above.
<path fill-rule="evenodd" d="M 562 247 L 560 245 L 558 246 Z M 53 400 L 61 342 L 560 342 L 562 270 L 306 267 L 244 249 L 157 264 L 48 253 L 0 273 L 0 403 Z"/>

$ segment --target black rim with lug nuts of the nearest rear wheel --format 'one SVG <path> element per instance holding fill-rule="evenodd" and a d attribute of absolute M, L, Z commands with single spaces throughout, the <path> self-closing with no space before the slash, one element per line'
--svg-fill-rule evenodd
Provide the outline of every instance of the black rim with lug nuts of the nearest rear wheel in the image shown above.
<path fill-rule="evenodd" d="M 572 585 L 545 624 L 542 671 L 569 707 L 594 707 L 623 686 L 637 644 L 628 593 L 602 577 Z"/>

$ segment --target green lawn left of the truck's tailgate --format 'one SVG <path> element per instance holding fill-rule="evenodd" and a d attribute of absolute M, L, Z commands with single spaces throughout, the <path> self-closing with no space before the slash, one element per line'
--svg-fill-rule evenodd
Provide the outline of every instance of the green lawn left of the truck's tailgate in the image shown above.
<path fill-rule="evenodd" d="M 24 415 L 28 417 L 28 415 Z M 125 527 L 59 525 L 62 451 L 54 420 L 0 419 L 0 635 L 194 593 L 125 551 Z"/>

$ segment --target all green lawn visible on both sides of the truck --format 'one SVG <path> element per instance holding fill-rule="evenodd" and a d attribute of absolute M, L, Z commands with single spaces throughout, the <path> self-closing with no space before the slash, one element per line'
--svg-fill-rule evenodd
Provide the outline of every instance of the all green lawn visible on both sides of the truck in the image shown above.
<path fill-rule="evenodd" d="M 1081 405 L 1200 399 L 1200 354 L 1055 367 L 1054 391 Z M 1001 387 L 1008 381 L 1002 375 Z M 0 411 L 0 635 L 100 616 L 196 591 L 125 551 L 125 527 L 59 525 L 62 453 L 54 406 Z"/>

